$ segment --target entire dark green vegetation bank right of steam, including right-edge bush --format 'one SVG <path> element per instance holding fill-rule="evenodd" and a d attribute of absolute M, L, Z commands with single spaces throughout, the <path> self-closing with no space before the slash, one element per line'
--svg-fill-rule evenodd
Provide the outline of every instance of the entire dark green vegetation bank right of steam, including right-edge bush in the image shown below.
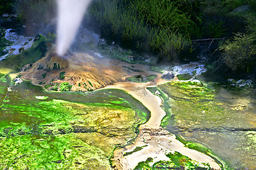
<path fill-rule="evenodd" d="M 193 60 L 204 47 L 213 74 L 255 77 L 255 6 L 253 0 L 96 0 L 89 11 L 91 25 L 109 44 L 170 61 Z M 115 56 L 136 61 L 129 54 Z"/>

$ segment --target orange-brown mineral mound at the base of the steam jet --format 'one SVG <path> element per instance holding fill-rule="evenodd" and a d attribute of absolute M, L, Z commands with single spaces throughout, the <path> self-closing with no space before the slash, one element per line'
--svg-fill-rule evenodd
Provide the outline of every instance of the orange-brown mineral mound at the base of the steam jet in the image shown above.
<path fill-rule="evenodd" d="M 143 72 L 141 72 L 144 70 Z M 88 53 L 69 53 L 65 57 L 58 57 L 55 46 L 50 47 L 45 57 L 23 67 L 22 79 L 30 79 L 35 85 L 51 89 L 55 84 L 68 82 L 71 91 L 92 91 L 108 84 L 126 81 L 127 77 L 138 74 L 149 76 L 150 67 L 142 64 L 128 64 L 120 60 L 112 60 L 101 55 L 94 57 Z M 60 73 L 65 72 L 65 78 Z M 50 86 L 50 87 L 49 87 Z"/>

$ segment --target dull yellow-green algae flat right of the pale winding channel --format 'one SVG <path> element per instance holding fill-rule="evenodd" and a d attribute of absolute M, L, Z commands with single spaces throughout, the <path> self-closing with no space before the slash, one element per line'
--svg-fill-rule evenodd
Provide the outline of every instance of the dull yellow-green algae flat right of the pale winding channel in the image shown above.
<path fill-rule="evenodd" d="M 228 164 L 226 169 L 256 168 L 254 88 L 173 81 L 150 90 L 160 91 L 164 100 L 162 127 L 210 149 Z"/>

